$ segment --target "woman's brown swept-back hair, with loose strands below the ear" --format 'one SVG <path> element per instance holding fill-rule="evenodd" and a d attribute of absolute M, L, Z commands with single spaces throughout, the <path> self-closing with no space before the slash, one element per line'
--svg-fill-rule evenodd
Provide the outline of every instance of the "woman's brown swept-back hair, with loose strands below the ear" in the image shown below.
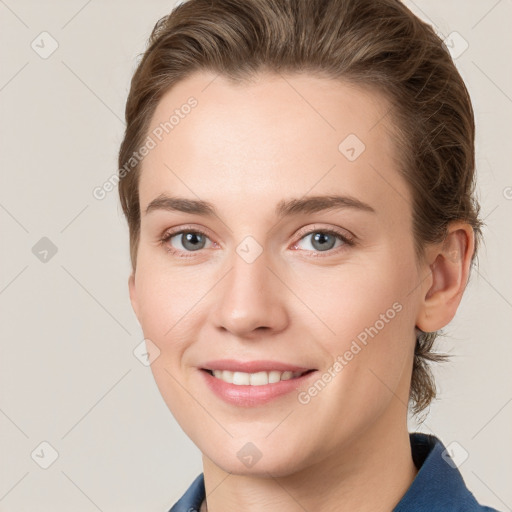
<path fill-rule="evenodd" d="M 389 102 L 399 172 L 411 191 L 418 259 L 441 242 L 451 221 L 481 236 L 475 188 L 471 100 L 431 26 L 399 0 L 188 0 L 157 21 L 131 80 L 119 151 L 119 196 L 127 218 L 132 270 L 140 235 L 138 182 L 144 143 L 162 96 L 195 71 L 235 83 L 261 72 L 309 73 L 383 94 Z M 130 160 L 131 159 L 131 160 Z M 122 169 L 123 168 L 123 169 Z M 436 397 L 429 362 L 437 332 L 417 331 L 409 404 L 414 414 Z"/>

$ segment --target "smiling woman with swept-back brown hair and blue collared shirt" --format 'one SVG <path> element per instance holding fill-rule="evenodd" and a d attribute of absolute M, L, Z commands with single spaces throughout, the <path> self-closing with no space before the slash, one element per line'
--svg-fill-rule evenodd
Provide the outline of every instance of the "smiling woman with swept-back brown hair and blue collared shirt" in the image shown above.
<path fill-rule="evenodd" d="M 131 83 L 130 298 L 203 454 L 172 507 L 492 510 L 408 407 L 480 238 L 471 101 L 398 0 L 189 0 Z"/>

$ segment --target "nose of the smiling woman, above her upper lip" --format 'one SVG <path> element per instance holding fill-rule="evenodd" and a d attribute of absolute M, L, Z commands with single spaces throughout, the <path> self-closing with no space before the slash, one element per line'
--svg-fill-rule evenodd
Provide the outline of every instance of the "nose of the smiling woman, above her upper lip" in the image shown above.
<path fill-rule="evenodd" d="M 288 289 L 278 272 L 271 269 L 263 251 L 256 260 L 233 255 L 232 268 L 219 283 L 214 320 L 221 330 L 237 337 L 254 337 L 286 328 Z"/>

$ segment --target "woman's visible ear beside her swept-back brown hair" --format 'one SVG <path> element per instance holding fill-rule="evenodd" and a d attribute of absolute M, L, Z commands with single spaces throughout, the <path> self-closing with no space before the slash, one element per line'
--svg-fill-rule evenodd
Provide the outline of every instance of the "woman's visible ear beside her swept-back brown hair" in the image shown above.
<path fill-rule="evenodd" d="M 448 226 L 443 242 L 429 246 L 425 265 L 430 272 L 424 279 L 416 326 L 424 332 L 437 331 L 455 316 L 466 288 L 475 250 L 473 227 L 466 222 Z"/>

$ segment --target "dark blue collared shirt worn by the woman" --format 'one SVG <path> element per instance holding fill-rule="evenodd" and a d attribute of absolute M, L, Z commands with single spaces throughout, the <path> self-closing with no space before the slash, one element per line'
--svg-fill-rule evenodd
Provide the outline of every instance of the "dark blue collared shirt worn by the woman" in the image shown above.
<path fill-rule="evenodd" d="M 498 512 L 476 501 L 437 437 L 414 432 L 409 439 L 419 471 L 393 512 Z M 204 498 L 201 473 L 169 512 L 198 512 Z"/>

